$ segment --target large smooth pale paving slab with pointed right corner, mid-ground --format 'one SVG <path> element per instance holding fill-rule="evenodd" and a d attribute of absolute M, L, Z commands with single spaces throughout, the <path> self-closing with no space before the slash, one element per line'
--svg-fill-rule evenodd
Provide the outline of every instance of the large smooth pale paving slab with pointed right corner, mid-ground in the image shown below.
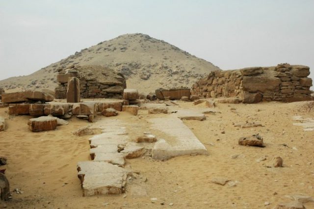
<path fill-rule="evenodd" d="M 152 150 L 153 158 L 166 160 L 171 157 L 191 154 L 208 155 L 205 146 L 180 119 L 167 116 L 148 121 L 152 123 L 152 129 L 167 134 L 167 137 L 156 142 Z"/>

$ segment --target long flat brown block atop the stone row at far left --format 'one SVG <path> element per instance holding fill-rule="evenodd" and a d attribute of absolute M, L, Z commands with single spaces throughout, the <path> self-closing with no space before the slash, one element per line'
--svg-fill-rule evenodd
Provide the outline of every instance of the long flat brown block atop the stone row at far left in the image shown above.
<path fill-rule="evenodd" d="M 53 100 L 51 94 L 42 91 L 21 91 L 2 94 L 3 103 L 21 103 L 29 101 L 51 102 Z"/>

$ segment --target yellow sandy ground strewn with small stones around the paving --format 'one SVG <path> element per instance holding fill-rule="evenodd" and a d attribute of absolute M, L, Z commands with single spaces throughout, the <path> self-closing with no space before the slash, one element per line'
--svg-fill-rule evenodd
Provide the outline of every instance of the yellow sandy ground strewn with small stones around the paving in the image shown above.
<path fill-rule="evenodd" d="M 179 102 L 182 108 L 204 108 L 204 104 Z M 312 109 L 311 109 L 312 106 Z M 231 110 L 231 108 L 235 110 Z M 127 159 L 127 167 L 147 177 L 148 196 L 99 195 L 82 197 L 77 178 L 78 161 L 89 160 L 88 138 L 74 136 L 72 131 L 88 122 L 70 119 L 68 126 L 55 131 L 30 132 L 30 116 L 8 119 L 8 129 L 0 132 L 0 156 L 8 159 L 6 176 L 12 199 L 0 206 L 7 208 L 274 208 L 279 202 L 290 202 L 285 195 L 305 194 L 314 197 L 314 131 L 293 126 L 292 116 L 314 118 L 313 102 L 218 104 L 215 115 L 205 121 L 184 121 L 208 149 L 208 156 L 183 156 L 158 161 L 149 157 Z M 8 118 L 7 108 L 0 116 Z M 116 118 L 134 124 L 153 117 L 147 110 L 138 116 L 121 112 Z M 162 114 L 154 117 L 162 117 Z M 99 116 L 98 120 L 107 120 Z M 241 129 L 233 123 L 259 121 L 264 127 Z M 144 123 L 145 124 L 145 123 Z M 147 127 L 137 125 L 139 131 Z M 223 133 L 224 132 L 224 133 Z M 266 147 L 244 147 L 237 144 L 241 136 L 260 133 Z M 283 146 L 286 144 L 287 146 Z M 239 155 L 232 158 L 233 155 Z M 257 162 L 259 157 L 267 160 Z M 280 156 L 284 167 L 267 167 Z M 236 186 L 211 183 L 214 177 L 238 181 Z M 22 194 L 13 189 L 19 188 Z M 157 198 L 151 203 L 151 198 Z M 160 203 L 164 202 L 164 205 Z M 270 205 L 264 206 L 265 202 Z M 169 206 L 173 203 L 173 206 Z M 314 203 L 306 203 L 307 209 Z"/>

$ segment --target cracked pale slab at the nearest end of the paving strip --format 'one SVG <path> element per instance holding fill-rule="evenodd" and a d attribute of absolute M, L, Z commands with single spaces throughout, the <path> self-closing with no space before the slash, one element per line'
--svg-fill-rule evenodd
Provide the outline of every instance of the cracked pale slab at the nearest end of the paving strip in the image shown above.
<path fill-rule="evenodd" d="M 130 171 L 101 161 L 78 162 L 78 178 L 83 196 L 97 194 L 121 194 Z"/>

